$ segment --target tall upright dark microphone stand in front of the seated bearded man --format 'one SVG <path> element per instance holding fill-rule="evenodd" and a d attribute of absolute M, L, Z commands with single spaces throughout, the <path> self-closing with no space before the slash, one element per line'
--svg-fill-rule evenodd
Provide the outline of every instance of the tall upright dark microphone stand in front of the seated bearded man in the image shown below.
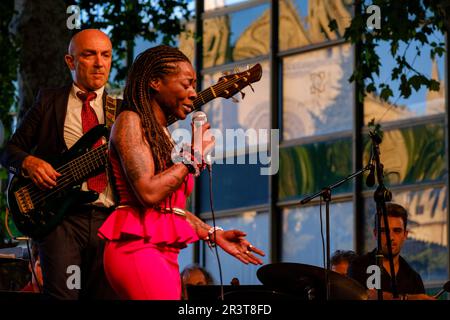
<path fill-rule="evenodd" d="M 374 193 L 374 200 L 377 205 L 377 253 L 376 253 L 376 261 L 377 266 L 380 268 L 380 271 L 383 270 L 383 248 L 381 243 L 381 218 L 383 218 L 384 222 L 384 230 L 385 230 L 385 236 L 386 236 L 386 245 L 388 249 L 388 260 L 389 260 L 389 268 L 391 271 L 391 286 L 392 286 L 392 295 L 394 298 L 398 298 L 398 291 L 397 291 L 397 280 L 395 276 L 395 269 L 394 269 L 394 260 L 392 257 L 392 243 L 391 243 L 391 233 L 389 229 L 389 221 L 387 216 L 387 210 L 386 210 L 386 202 L 389 202 L 392 200 L 392 193 L 386 189 L 384 185 L 384 179 L 383 179 L 383 164 L 380 161 L 380 143 L 381 143 L 381 137 L 375 133 L 375 132 L 369 132 L 369 136 L 372 140 L 372 154 L 373 159 L 375 162 L 375 171 L 376 171 L 376 178 L 378 180 L 378 187 L 375 190 Z M 383 291 L 380 287 L 377 289 L 377 295 L 378 300 L 383 300 Z"/>

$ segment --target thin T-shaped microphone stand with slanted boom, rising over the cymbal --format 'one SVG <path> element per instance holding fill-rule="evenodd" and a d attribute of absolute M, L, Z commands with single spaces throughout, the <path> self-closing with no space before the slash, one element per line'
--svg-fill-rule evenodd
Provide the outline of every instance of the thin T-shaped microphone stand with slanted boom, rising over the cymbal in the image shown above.
<path fill-rule="evenodd" d="M 317 198 L 319 196 L 322 197 L 322 199 L 325 201 L 325 225 L 326 225 L 326 269 L 325 269 L 325 283 L 326 283 L 326 297 L 327 301 L 330 300 L 330 281 L 329 281 L 329 271 L 331 271 L 331 258 L 330 258 L 330 202 L 331 202 L 331 190 L 339 187 L 341 184 L 347 182 L 350 179 L 353 179 L 356 176 L 359 176 L 360 174 L 363 174 L 366 171 L 371 170 L 372 167 L 372 161 L 369 161 L 369 164 L 366 165 L 363 169 L 358 170 L 344 179 L 329 185 L 322 190 L 305 197 L 303 200 L 300 201 L 300 204 L 305 204 L 309 201 L 311 201 L 314 198 Z"/>

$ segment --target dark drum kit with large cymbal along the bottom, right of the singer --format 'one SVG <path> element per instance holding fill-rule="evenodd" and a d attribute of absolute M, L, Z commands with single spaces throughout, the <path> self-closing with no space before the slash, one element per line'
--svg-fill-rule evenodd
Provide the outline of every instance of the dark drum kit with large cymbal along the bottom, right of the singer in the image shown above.
<path fill-rule="evenodd" d="M 328 272 L 328 275 L 327 275 Z M 256 273 L 262 285 L 223 286 L 224 301 L 367 300 L 357 281 L 331 270 L 301 263 L 272 263 Z M 327 279 L 329 294 L 327 295 Z M 217 285 L 188 286 L 189 300 L 222 300 Z"/>

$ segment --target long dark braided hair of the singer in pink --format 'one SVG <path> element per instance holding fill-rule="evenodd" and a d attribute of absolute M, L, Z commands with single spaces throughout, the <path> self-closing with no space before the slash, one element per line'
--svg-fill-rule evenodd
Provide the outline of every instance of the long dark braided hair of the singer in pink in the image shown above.
<path fill-rule="evenodd" d="M 136 57 L 128 73 L 124 90 L 126 108 L 139 114 L 145 137 L 150 145 L 155 163 L 155 173 L 163 171 L 171 164 L 173 142 L 165 133 L 155 116 L 150 103 L 153 90 L 149 83 L 153 79 L 162 79 L 165 75 L 178 72 L 176 62 L 189 62 L 180 50 L 160 45 L 145 50 Z"/>

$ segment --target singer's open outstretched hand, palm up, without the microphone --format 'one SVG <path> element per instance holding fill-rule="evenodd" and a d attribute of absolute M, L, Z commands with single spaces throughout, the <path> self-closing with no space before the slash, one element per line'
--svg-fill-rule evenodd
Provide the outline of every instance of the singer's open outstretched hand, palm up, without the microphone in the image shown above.
<path fill-rule="evenodd" d="M 239 259 L 245 264 L 263 264 L 263 261 L 257 258 L 255 254 L 265 256 L 264 251 L 252 246 L 250 242 L 245 239 L 246 234 L 244 232 L 240 230 L 227 230 L 216 231 L 215 234 L 217 238 L 214 239 L 213 234 L 213 242 L 236 259 Z"/>

